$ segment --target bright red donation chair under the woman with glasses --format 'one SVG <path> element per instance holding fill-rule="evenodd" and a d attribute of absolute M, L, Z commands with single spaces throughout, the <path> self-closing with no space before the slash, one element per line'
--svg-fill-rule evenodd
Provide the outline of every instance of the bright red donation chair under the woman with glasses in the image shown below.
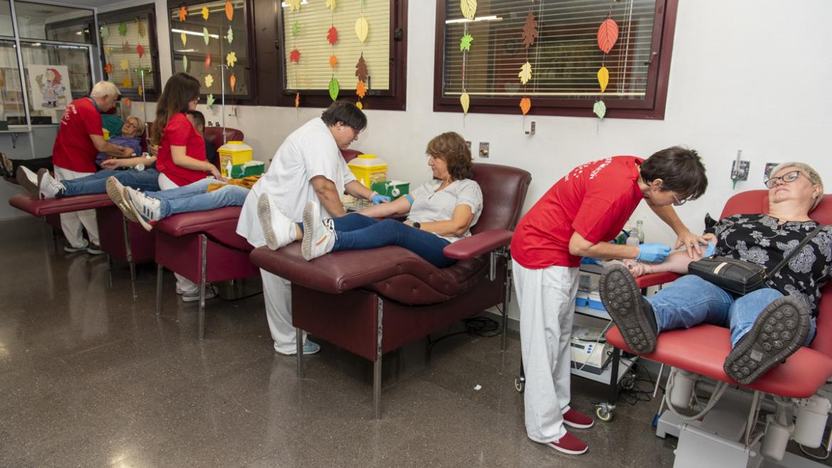
<path fill-rule="evenodd" d="M 741 192 L 731 197 L 726 202 L 721 217 L 765 212 L 768 212 L 768 191 L 755 190 Z M 821 224 L 832 224 L 832 195 L 825 195 L 820 205 L 810 212 L 810 217 Z M 636 282 L 640 287 L 645 288 L 673 281 L 676 277 L 678 275 L 673 273 L 657 273 L 640 276 L 636 279 Z M 667 365 L 676 368 L 671 372 L 681 369 L 700 376 L 710 377 L 719 382 L 726 382 L 729 386 L 738 386 L 754 391 L 755 399 L 763 394 L 771 394 L 786 400 L 810 398 L 832 376 L 832 282 L 826 284 L 822 291 L 823 296 L 820 301 L 815 340 L 812 341 L 809 347 L 800 348 L 785 363 L 775 366 L 749 385 L 740 385 L 733 381 L 722 368 L 731 350 L 730 331 L 722 326 L 702 324 L 689 329 L 662 331 L 656 341 L 656 349 L 641 356 L 651 361 L 660 362 L 662 366 Z M 621 332 L 615 326 L 607 333 L 607 341 L 623 351 L 636 354 L 626 346 Z M 663 404 L 662 408 L 664 407 Z M 750 412 L 759 412 L 759 407 L 752 404 Z M 722 455 L 726 457 L 737 456 L 742 451 L 759 454 L 759 446 L 755 446 L 749 441 L 737 441 L 726 437 L 724 434 L 703 431 L 696 426 L 687 427 L 690 426 L 688 424 L 684 426 L 686 427 L 683 428 L 684 431 L 680 431 L 683 435 L 679 436 L 679 445 L 676 449 L 675 466 L 677 467 L 703 466 L 708 465 L 709 461 L 716 461 L 716 466 L 728 466 L 730 463 L 728 459 L 719 459 L 719 457 Z M 661 429 L 661 420 L 659 421 L 659 427 Z M 745 427 L 746 438 L 750 435 L 750 430 L 751 428 Z M 661 431 L 657 432 L 663 436 Z M 734 450 L 724 452 L 721 452 L 721 449 L 702 450 L 701 445 L 696 446 L 697 443 L 701 444 L 701 442 L 694 442 L 697 439 L 720 441 L 716 444 L 716 447 L 722 449 L 733 447 Z M 692 458 L 691 454 L 699 455 Z M 790 454 L 785 455 L 790 456 Z M 733 461 L 736 461 L 736 459 L 733 459 Z"/>

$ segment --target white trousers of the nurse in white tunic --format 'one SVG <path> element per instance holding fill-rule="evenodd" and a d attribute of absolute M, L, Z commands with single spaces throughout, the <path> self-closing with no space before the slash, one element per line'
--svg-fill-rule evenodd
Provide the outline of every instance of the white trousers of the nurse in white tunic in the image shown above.
<path fill-rule="evenodd" d="M 269 271 L 260 270 L 263 279 L 265 317 L 269 321 L 271 338 L 275 340 L 275 351 L 281 354 L 295 354 L 297 340 L 292 325 L 292 283 Z M 303 333 L 306 341 L 306 332 Z"/>

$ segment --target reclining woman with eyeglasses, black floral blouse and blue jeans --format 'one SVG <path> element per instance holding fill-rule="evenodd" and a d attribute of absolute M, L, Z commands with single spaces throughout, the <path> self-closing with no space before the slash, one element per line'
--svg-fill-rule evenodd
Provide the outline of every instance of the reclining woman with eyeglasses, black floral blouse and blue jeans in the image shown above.
<path fill-rule="evenodd" d="M 716 240 L 714 254 L 771 271 L 819 226 L 809 213 L 824 197 L 820 175 L 802 162 L 780 164 L 771 174 L 765 181 L 769 189 L 766 214 L 732 215 L 719 222 L 706 218 L 706 232 Z M 629 265 L 630 271 L 619 265 L 604 273 L 602 300 L 627 346 L 646 353 L 656 346 L 661 331 L 701 323 L 726 326 L 732 351 L 724 369 L 730 378 L 748 384 L 815 337 L 820 291 L 832 271 L 832 227 L 822 227 L 765 287 L 745 296 L 731 295 L 699 276 L 686 275 L 654 296 L 627 303 L 616 300 L 625 294 L 640 297 L 633 275 L 685 274 L 692 260 L 698 258 L 671 254 L 660 264 Z"/>

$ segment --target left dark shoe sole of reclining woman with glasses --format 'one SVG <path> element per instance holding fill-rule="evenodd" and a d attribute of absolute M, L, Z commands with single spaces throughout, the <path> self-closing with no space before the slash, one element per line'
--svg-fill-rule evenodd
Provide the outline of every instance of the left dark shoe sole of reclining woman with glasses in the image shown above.
<path fill-rule="evenodd" d="M 641 290 L 623 265 L 604 269 L 600 282 L 601 301 L 616 322 L 626 346 L 640 354 L 656 349 L 656 333 L 644 316 Z"/>

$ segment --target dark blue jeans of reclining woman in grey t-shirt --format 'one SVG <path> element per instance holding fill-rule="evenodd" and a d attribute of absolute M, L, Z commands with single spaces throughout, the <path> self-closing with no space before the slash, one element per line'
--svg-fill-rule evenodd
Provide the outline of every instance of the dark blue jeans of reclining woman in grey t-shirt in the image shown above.
<path fill-rule="evenodd" d="M 374 249 L 383 246 L 400 246 L 414 252 L 438 268 L 451 266 L 457 261 L 448 258 L 442 249 L 451 242 L 432 232 L 409 227 L 392 219 L 376 220 L 358 213 L 333 218 L 335 244 L 332 251 Z"/>

